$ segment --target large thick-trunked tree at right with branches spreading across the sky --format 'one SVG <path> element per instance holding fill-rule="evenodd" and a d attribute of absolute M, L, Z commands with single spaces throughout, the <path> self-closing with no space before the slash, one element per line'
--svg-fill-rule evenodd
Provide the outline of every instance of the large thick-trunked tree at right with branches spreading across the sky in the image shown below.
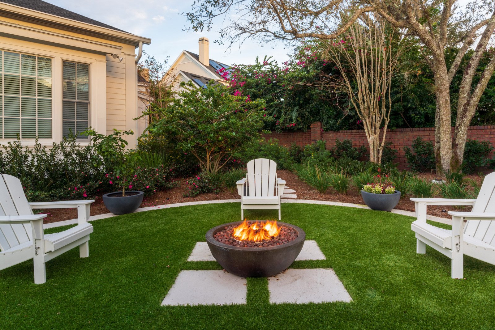
<path fill-rule="evenodd" d="M 221 29 L 222 40 L 259 41 L 302 38 L 334 40 L 364 13 L 376 12 L 396 28 L 415 36 L 425 48 L 425 60 L 434 73 L 435 158 L 437 170 L 459 170 L 462 165 L 467 127 L 495 70 L 495 56 L 481 70 L 480 60 L 495 30 L 494 0 L 469 3 L 463 11 L 456 0 L 199 0 L 186 16 L 193 30 L 210 29 L 218 16 L 230 18 Z M 487 17 L 488 16 L 488 17 Z M 346 20 L 343 21 L 342 17 Z M 477 41 L 475 43 L 475 41 Z M 447 67 L 445 48 L 459 51 Z M 459 83 L 454 136 L 451 136 L 450 83 L 469 48 L 474 47 Z M 480 75 L 476 84 L 475 75 Z"/>

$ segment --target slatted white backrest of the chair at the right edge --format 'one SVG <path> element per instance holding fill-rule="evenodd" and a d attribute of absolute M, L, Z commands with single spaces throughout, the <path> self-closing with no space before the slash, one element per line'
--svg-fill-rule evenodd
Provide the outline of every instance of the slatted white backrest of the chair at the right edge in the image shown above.
<path fill-rule="evenodd" d="M 485 176 L 472 212 L 495 213 L 495 172 Z M 495 245 L 495 221 L 468 220 L 464 234 Z"/>

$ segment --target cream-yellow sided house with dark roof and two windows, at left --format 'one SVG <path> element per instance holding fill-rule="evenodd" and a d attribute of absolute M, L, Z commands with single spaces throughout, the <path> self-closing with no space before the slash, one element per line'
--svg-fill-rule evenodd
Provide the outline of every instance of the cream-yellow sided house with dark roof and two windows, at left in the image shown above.
<path fill-rule="evenodd" d="M 137 61 L 150 42 L 45 1 L 0 0 L 0 144 L 20 134 L 49 145 L 92 126 L 132 129 L 134 147 Z"/>

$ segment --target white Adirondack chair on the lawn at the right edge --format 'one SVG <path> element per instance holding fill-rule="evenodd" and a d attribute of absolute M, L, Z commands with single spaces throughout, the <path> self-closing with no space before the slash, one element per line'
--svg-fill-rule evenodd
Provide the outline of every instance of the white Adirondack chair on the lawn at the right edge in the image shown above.
<path fill-rule="evenodd" d="M 429 245 L 452 259 L 453 279 L 463 278 L 464 254 L 495 265 L 495 172 L 485 177 L 475 200 L 411 198 L 411 201 L 416 206 L 417 220 L 411 229 L 416 233 L 417 253 L 426 253 Z M 448 212 L 452 216 L 452 230 L 447 230 L 426 223 L 428 205 L 472 205 L 473 208 L 471 212 Z M 465 225 L 464 220 L 467 220 Z"/>

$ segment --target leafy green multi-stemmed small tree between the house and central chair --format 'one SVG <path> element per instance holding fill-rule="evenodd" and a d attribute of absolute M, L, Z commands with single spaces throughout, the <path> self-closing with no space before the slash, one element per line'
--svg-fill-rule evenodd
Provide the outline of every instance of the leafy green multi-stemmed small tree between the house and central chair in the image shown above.
<path fill-rule="evenodd" d="M 260 138 L 267 117 L 263 102 L 232 95 L 223 84 L 181 87 L 174 103 L 149 125 L 149 134 L 166 137 L 177 149 L 194 155 L 204 171 L 218 172 L 231 164 L 234 153 Z"/>

